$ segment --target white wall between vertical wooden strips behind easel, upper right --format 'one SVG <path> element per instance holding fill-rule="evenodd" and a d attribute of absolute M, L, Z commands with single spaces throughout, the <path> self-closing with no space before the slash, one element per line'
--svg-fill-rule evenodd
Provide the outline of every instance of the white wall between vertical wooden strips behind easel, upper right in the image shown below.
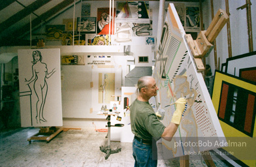
<path fill-rule="evenodd" d="M 229 19 L 231 27 L 231 47 L 232 47 L 232 57 L 236 55 L 241 55 L 249 52 L 248 46 L 248 27 L 246 20 L 246 8 L 243 10 L 236 10 L 236 8 L 245 5 L 246 1 L 232 0 L 229 1 Z M 253 51 L 256 50 L 256 0 L 251 0 L 251 22 L 253 30 Z M 203 5 L 204 12 L 204 29 L 207 29 L 212 20 L 211 5 L 210 0 L 204 1 Z M 215 0 L 214 1 L 214 14 L 216 14 L 219 8 L 226 10 L 225 1 Z M 223 27 L 221 32 L 216 38 L 216 47 L 217 47 L 217 57 L 220 59 L 219 67 L 221 64 L 226 62 L 226 59 L 229 57 L 228 43 L 227 43 L 227 24 Z M 209 64 L 214 72 L 214 51 L 206 58 L 206 63 Z"/>

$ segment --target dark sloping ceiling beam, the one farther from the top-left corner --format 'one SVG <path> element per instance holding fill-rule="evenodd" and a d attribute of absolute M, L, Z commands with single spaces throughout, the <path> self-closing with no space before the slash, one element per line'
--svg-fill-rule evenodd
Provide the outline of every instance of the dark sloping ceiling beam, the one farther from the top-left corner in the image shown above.
<path fill-rule="evenodd" d="M 65 0 L 65 1 L 59 3 L 58 5 L 56 5 L 55 7 L 51 8 L 47 12 L 44 12 L 38 18 L 35 18 L 32 21 L 32 29 L 33 29 L 33 27 L 37 27 L 37 25 L 39 25 L 42 22 L 42 20 L 43 21 L 47 20 L 48 18 L 50 18 L 54 14 L 57 14 L 57 12 L 59 12 L 60 10 L 62 10 L 65 7 L 68 7 L 72 3 L 74 3 L 73 0 Z M 18 31 L 16 31 L 14 33 L 14 37 L 20 37 L 20 36 L 24 35 L 24 33 L 29 31 L 29 29 L 30 29 L 30 23 L 27 23 L 26 25 L 24 25 L 23 27 L 21 27 Z"/>

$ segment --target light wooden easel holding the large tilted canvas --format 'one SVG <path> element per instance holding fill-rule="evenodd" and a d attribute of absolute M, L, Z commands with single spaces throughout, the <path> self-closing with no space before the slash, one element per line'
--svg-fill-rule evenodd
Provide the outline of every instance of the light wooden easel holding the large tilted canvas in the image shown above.
<path fill-rule="evenodd" d="M 227 23 L 228 19 L 229 16 L 225 10 L 219 9 L 208 29 L 206 31 L 200 31 L 196 40 L 193 40 L 190 34 L 185 35 L 189 48 L 194 56 L 197 71 L 201 72 L 204 70 L 202 58 L 207 57 L 210 54 L 212 48 L 214 48 L 212 43 L 216 39 L 217 35 L 219 35 L 219 32 L 224 27 L 225 23 Z M 209 151 L 204 151 L 201 155 L 207 166 L 216 166 Z M 189 155 L 180 157 L 180 166 L 189 166 Z"/>

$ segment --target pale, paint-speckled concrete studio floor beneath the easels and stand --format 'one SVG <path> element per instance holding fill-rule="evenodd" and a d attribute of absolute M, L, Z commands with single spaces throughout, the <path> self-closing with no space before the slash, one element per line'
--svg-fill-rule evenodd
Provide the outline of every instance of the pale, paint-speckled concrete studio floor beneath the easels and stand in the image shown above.
<path fill-rule="evenodd" d="M 111 142 L 111 148 L 121 147 L 120 153 L 107 160 L 99 146 L 107 145 L 107 132 L 68 130 L 50 142 L 27 138 L 39 132 L 36 128 L 22 128 L 0 132 L 0 166 L 134 166 L 131 143 Z M 161 151 L 159 151 L 161 153 Z M 216 166 L 227 166 L 212 157 Z M 202 157 L 189 157 L 189 166 L 206 166 Z M 158 166 L 179 166 L 179 159 L 158 160 Z"/>

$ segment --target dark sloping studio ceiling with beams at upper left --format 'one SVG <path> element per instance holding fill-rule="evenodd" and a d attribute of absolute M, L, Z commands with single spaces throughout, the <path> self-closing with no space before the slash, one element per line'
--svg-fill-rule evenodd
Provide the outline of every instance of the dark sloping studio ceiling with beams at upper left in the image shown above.
<path fill-rule="evenodd" d="M 29 45 L 24 36 L 30 29 L 37 29 L 80 1 L 0 0 L 0 46 Z"/>

